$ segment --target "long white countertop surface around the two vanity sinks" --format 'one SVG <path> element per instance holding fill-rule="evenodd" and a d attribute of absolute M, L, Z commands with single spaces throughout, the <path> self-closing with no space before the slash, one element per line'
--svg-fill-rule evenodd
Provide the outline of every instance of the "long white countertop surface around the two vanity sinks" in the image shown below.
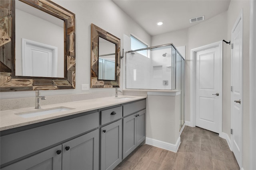
<path fill-rule="evenodd" d="M 42 121 L 48 121 L 60 117 L 65 117 L 69 115 L 74 115 L 78 113 L 83 113 L 86 111 L 101 109 L 104 107 L 115 106 L 118 104 L 123 104 L 127 102 L 132 102 L 140 99 L 146 98 L 145 96 L 118 96 L 118 98 L 130 98 L 130 99 L 116 99 L 113 97 L 108 98 L 98 98 L 92 100 L 82 100 L 77 102 L 68 102 L 61 104 L 53 104 L 47 106 L 41 106 L 42 109 L 34 109 L 34 107 L 23 108 L 23 109 L 14 109 L 14 110 L 6 110 L 0 112 L 0 131 L 12 129 L 15 127 L 21 127 L 25 125 L 30 125 L 33 123 L 39 123 Z M 51 113 L 47 115 L 41 115 L 30 118 L 20 117 L 19 113 L 26 113 L 30 111 L 40 111 L 44 109 L 50 109 L 55 107 L 69 107 L 73 108 L 67 111 Z"/>

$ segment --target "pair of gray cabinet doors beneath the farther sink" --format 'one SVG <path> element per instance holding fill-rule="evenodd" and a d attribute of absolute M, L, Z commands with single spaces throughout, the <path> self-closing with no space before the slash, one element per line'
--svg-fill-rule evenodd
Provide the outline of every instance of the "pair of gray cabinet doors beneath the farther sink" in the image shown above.
<path fill-rule="evenodd" d="M 146 110 L 123 118 L 123 159 L 146 139 Z"/>

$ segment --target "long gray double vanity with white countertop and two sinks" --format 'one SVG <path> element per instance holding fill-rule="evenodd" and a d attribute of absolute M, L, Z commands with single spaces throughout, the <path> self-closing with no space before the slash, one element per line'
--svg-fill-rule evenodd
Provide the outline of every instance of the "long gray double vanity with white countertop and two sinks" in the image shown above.
<path fill-rule="evenodd" d="M 146 139 L 146 97 L 1 111 L 1 169 L 112 170 Z"/>

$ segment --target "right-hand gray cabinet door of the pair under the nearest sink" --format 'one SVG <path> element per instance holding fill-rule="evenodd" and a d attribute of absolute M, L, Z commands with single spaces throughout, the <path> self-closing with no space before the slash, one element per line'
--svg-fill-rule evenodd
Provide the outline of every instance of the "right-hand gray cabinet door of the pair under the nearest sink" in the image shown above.
<path fill-rule="evenodd" d="M 62 170 L 99 169 L 99 130 L 62 144 Z"/>

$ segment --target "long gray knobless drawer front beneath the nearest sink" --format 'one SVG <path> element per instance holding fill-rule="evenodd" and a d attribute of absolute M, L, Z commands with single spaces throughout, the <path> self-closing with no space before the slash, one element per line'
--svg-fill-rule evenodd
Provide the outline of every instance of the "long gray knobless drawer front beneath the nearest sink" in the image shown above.
<path fill-rule="evenodd" d="M 55 145 L 98 126 L 99 113 L 96 112 L 2 136 L 1 164 Z"/>

